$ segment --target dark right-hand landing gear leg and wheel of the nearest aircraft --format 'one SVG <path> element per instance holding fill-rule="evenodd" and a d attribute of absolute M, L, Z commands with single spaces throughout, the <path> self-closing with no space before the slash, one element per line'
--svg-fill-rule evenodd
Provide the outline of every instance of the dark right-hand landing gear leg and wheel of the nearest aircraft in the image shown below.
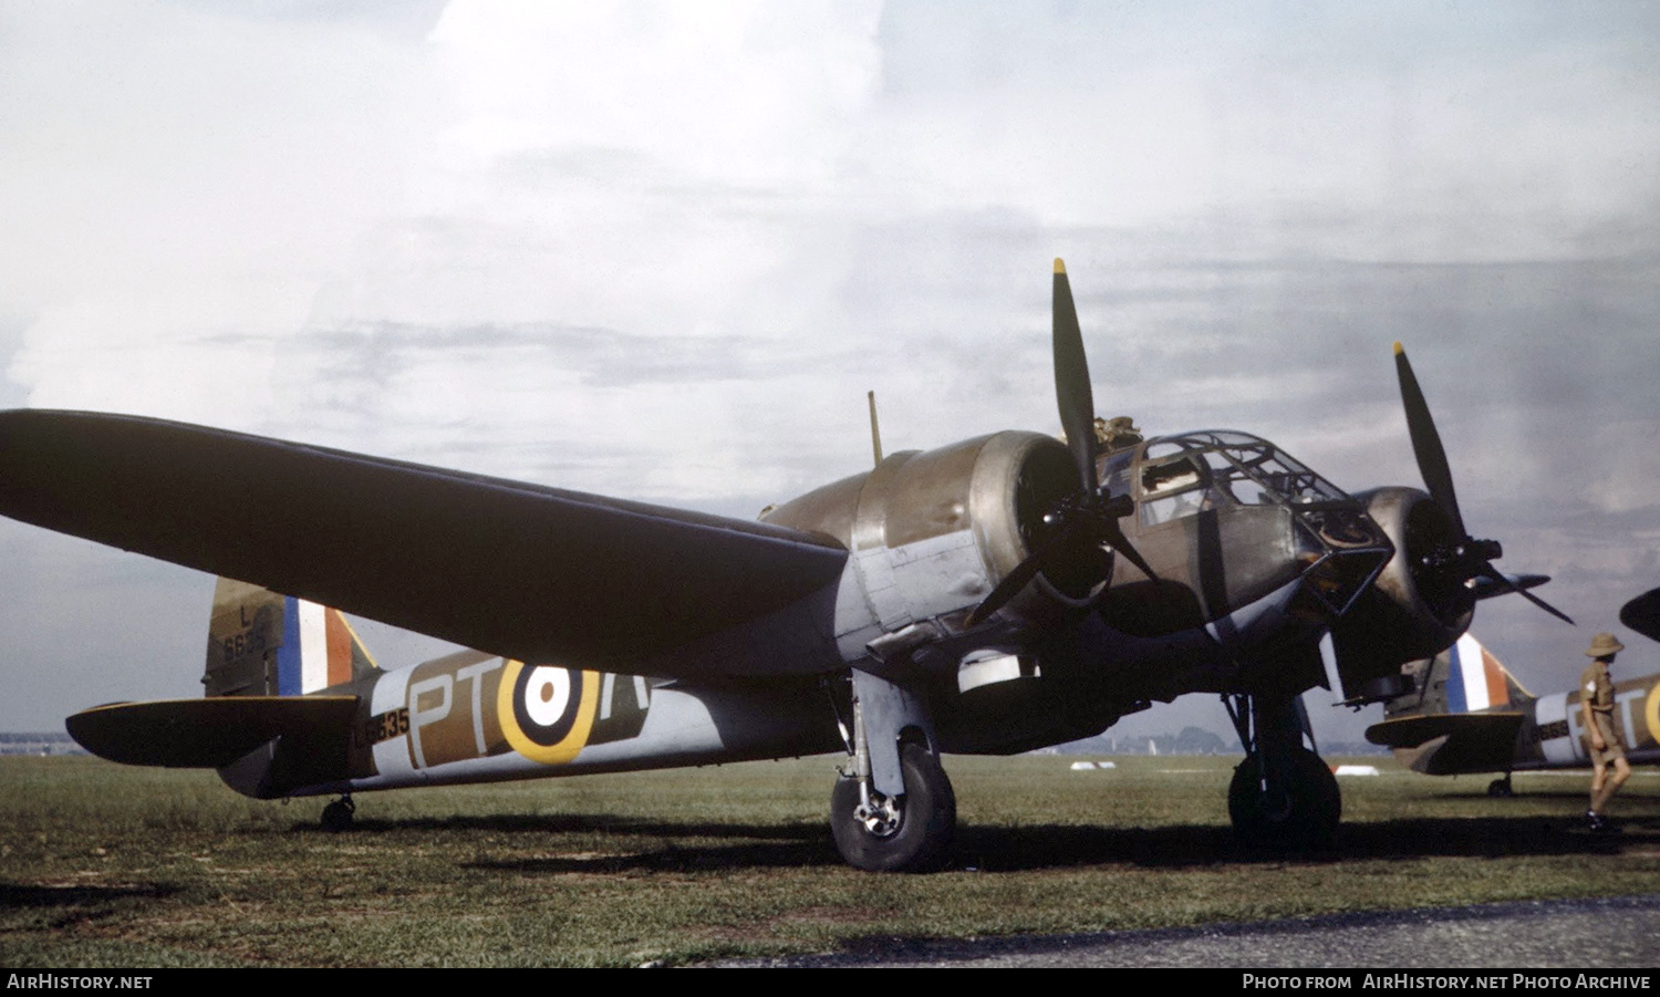
<path fill-rule="evenodd" d="M 1245 761 L 1228 783 L 1233 834 L 1253 851 L 1316 851 L 1331 844 L 1343 816 L 1338 780 L 1301 745 L 1306 717 L 1285 695 L 1223 698 Z"/>

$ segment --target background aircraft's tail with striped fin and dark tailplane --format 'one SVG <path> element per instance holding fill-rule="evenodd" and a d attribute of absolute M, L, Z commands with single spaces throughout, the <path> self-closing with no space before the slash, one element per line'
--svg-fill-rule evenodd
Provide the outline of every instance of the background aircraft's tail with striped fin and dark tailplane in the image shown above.
<path fill-rule="evenodd" d="M 1386 745 L 1416 771 L 1509 771 L 1532 700 L 1509 669 L 1464 634 L 1433 659 L 1403 669 L 1416 688 L 1383 705 L 1383 723 L 1366 740 Z"/>

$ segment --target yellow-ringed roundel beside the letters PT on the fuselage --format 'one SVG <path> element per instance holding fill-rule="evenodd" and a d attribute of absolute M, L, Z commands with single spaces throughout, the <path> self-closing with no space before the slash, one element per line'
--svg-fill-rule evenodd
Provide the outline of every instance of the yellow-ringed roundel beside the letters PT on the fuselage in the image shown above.
<path fill-rule="evenodd" d="M 563 765 L 576 758 L 594 728 L 599 672 L 508 662 L 496 692 L 501 733 L 515 751 Z"/>

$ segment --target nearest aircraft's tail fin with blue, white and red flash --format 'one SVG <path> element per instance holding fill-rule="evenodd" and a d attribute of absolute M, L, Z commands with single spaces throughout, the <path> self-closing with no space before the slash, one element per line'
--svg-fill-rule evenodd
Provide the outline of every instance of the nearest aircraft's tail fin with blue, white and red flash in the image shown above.
<path fill-rule="evenodd" d="M 305 695 L 377 669 L 339 609 L 219 579 L 203 675 L 209 697 Z"/>

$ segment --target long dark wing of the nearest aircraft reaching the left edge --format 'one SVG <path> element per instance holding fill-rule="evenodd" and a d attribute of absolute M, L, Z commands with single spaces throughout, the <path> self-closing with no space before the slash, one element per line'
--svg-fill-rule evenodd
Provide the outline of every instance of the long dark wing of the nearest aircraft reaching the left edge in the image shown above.
<path fill-rule="evenodd" d="M 80 411 L 0 413 L 0 514 L 490 654 L 669 677 L 710 674 L 707 655 L 677 674 L 676 649 L 823 601 L 848 556 L 764 523 Z M 727 674 L 812 665 L 777 659 Z"/>

